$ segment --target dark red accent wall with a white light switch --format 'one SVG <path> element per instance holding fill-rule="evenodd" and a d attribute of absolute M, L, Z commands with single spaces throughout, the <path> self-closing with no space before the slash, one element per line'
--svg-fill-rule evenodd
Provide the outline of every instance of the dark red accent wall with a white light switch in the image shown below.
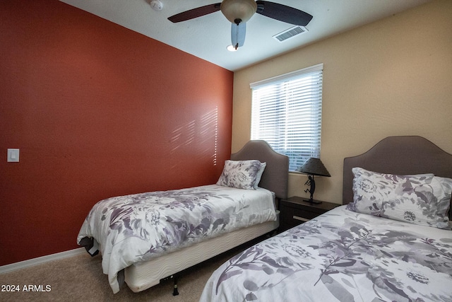
<path fill-rule="evenodd" d="M 218 179 L 232 71 L 57 0 L 1 1 L 0 41 L 0 265 L 78 248 L 100 199 Z"/>

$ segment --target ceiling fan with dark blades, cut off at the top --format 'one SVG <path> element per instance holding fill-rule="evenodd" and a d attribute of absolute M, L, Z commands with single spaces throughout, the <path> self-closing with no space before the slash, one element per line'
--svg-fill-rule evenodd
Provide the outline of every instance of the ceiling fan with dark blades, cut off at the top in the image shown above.
<path fill-rule="evenodd" d="M 177 13 L 169 17 L 168 20 L 177 23 L 215 13 L 215 11 L 221 11 L 227 20 L 231 22 L 231 40 L 236 50 L 244 45 L 246 22 L 249 21 L 254 13 L 260 13 L 275 20 L 301 26 L 306 26 L 312 19 L 309 13 L 270 1 L 223 0 L 221 3 L 209 4 Z"/>

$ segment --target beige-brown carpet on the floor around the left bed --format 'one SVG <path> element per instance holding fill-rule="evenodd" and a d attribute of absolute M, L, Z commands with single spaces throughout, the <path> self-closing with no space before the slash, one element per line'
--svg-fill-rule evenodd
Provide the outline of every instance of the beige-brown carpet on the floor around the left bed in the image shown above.
<path fill-rule="evenodd" d="M 179 296 L 172 296 L 172 279 L 140 293 L 133 293 L 125 284 L 118 294 L 113 294 L 107 275 L 102 274 L 100 255 L 83 254 L 0 274 L 1 286 L 20 288 L 18 292 L 0 291 L 0 301 L 198 301 L 210 274 L 248 245 L 186 269 L 179 277 Z M 43 291 L 23 291 L 23 286 L 28 285 Z"/>

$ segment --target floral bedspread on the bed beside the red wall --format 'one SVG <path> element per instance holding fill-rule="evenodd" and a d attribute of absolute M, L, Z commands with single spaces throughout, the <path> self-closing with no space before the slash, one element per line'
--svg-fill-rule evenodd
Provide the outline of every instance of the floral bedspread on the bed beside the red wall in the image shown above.
<path fill-rule="evenodd" d="M 270 191 L 219 185 L 146 192 L 104 199 L 86 217 L 77 243 L 94 238 L 102 252 L 102 269 L 114 293 L 117 274 L 206 238 L 275 221 Z"/>

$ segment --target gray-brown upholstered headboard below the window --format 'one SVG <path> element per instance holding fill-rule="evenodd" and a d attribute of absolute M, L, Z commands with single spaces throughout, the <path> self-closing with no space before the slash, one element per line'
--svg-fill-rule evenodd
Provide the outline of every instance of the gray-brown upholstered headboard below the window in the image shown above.
<path fill-rule="evenodd" d="M 275 192 L 279 199 L 287 198 L 289 158 L 276 153 L 266 141 L 248 141 L 242 149 L 231 154 L 232 161 L 257 159 L 267 163 L 259 187 Z"/>

